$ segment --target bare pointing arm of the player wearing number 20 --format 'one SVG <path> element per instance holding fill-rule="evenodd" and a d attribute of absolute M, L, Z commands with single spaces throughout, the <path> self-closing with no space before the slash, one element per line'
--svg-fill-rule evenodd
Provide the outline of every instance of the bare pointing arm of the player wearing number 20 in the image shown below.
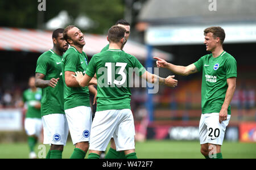
<path fill-rule="evenodd" d="M 177 65 L 173 65 L 172 63 L 168 63 L 162 58 L 159 58 L 159 57 L 153 57 L 153 58 L 157 59 L 156 66 L 167 68 L 172 72 L 174 72 L 175 74 L 187 76 L 189 74 L 193 74 L 197 72 L 196 66 L 193 63 L 188 66 L 177 66 Z"/>

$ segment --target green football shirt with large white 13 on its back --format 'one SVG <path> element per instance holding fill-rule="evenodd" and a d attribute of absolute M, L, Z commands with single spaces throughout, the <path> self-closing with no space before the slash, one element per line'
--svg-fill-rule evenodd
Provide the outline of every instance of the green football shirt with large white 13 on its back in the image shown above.
<path fill-rule="evenodd" d="M 92 57 L 85 73 L 97 75 L 97 111 L 131 108 L 129 78 L 136 68 L 138 75 L 146 71 L 137 58 L 122 50 L 108 49 Z"/>

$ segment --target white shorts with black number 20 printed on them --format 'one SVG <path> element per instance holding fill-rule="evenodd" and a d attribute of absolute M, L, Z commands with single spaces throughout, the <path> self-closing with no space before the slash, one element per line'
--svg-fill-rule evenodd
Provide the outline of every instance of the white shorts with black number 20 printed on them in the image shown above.
<path fill-rule="evenodd" d="M 205 113 L 201 115 L 199 123 L 199 139 L 200 145 L 211 143 L 214 145 L 222 145 L 226 126 L 228 126 L 230 114 L 227 120 L 219 122 L 219 113 Z"/>

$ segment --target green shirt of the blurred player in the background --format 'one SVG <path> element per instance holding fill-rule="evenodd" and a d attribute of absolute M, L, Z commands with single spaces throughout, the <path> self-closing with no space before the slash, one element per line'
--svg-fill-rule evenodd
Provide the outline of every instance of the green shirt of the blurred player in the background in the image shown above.
<path fill-rule="evenodd" d="M 35 105 L 40 103 L 41 98 L 41 88 L 36 88 L 36 91 L 29 88 L 23 92 L 23 102 L 27 105 L 26 118 L 41 118 L 40 109 L 35 108 Z"/>

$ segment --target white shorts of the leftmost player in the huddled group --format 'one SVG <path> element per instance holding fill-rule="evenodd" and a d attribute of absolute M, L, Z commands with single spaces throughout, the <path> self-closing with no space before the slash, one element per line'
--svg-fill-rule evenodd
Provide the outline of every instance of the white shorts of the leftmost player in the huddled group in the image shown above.
<path fill-rule="evenodd" d="M 42 117 L 44 127 L 44 144 L 66 145 L 68 122 L 65 114 L 47 114 Z"/>

